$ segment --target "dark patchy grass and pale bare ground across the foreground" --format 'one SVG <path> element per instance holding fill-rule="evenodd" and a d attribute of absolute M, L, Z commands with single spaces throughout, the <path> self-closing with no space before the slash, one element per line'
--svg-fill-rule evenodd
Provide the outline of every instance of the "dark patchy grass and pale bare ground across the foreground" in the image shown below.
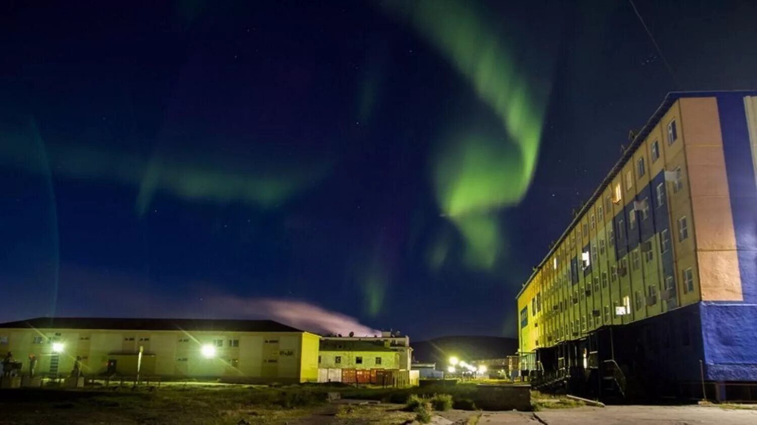
<path fill-rule="evenodd" d="M 321 393 L 321 395 L 323 395 Z M 307 389 L 188 387 L 154 391 L 47 389 L 0 390 L 0 425 L 86 424 L 248 424 L 391 425 L 412 423 L 403 405 L 338 400 L 324 402 Z M 543 406 L 548 406 L 549 403 Z M 551 405 L 557 406 L 556 403 Z M 663 425 L 757 424 L 757 408 L 747 405 L 565 406 L 539 411 L 433 413 L 436 425 Z"/>

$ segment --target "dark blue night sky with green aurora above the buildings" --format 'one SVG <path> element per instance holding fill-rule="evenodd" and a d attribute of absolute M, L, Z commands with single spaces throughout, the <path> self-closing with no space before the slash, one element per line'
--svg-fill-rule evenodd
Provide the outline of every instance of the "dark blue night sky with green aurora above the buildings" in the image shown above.
<path fill-rule="evenodd" d="M 665 93 L 757 88 L 757 2 L 116 4 L 0 5 L 0 321 L 513 336 Z"/>

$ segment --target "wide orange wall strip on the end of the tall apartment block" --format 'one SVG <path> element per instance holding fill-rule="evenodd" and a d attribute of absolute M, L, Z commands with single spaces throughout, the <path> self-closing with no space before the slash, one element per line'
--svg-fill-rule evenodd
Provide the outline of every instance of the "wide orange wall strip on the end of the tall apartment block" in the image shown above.
<path fill-rule="evenodd" d="M 715 98 L 682 98 L 681 120 L 702 301 L 742 301 Z"/>

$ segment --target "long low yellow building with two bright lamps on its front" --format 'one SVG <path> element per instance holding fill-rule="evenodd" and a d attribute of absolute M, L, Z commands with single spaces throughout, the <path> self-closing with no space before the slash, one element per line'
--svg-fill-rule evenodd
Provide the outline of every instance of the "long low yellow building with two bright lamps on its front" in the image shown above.
<path fill-rule="evenodd" d="M 20 374 L 318 379 L 320 337 L 269 320 L 33 318 L 0 324 L 0 356 Z M 141 352 L 141 354 L 140 354 Z M 34 359 L 34 360 L 33 360 Z"/>

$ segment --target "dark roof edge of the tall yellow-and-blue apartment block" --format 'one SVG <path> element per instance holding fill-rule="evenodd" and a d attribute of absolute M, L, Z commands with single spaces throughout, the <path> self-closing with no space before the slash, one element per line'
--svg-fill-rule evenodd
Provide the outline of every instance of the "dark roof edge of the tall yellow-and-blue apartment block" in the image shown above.
<path fill-rule="evenodd" d="M 662 119 L 662 116 L 665 115 L 666 112 L 668 112 L 668 109 L 676 102 L 678 99 L 681 98 L 717 98 L 721 96 L 755 96 L 757 95 L 757 91 L 755 90 L 733 90 L 733 91 L 719 91 L 719 92 L 669 92 L 668 95 L 665 95 L 665 99 L 662 101 L 662 104 L 657 108 L 655 113 L 653 113 L 652 116 L 650 116 L 650 119 L 646 121 L 646 124 L 642 127 L 640 132 L 634 137 L 634 140 L 631 141 L 631 144 L 623 151 L 623 154 L 621 155 L 620 159 L 617 163 L 615 163 L 614 166 L 612 166 L 612 169 L 610 169 L 610 172 L 606 175 L 606 177 L 603 179 L 602 183 L 597 187 L 597 190 L 594 191 L 594 193 L 589 197 L 589 199 L 584 203 L 584 206 L 581 207 L 581 209 L 578 211 L 578 214 L 575 215 L 573 220 L 570 222 L 570 225 L 568 225 L 567 228 L 565 228 L 565 231 L 562 232 L 559 239 L 555 241 L 553 246 L 550 248 L 550 251 L 547 253 L 546 256 L 544 256 L 544 259 L 541 260 L 539 265 L 534 268 L 534 272 L 531 273 L 531 276 L 528 276 L 528 279 L 525 281 L 525 284 L 521 287 L 521 290 L 518 291 L 518 295 L 516 295 L 516 299 L 518 299 L 519 296 L 521 296 L 521 293 L 523 290 L 525 290 L 526 287 L 528 287 L 528 284 L 534 279 L 534 276 L 537 274 L 537 272 L 544 267 L 544 263 L 549 261 L 550 256 L 557 250 L 557 248 L 560 246 L 560 243 L 562 240 L 565 240 L 566 237 L 568 237 L 568 234 L 570 231 L 575 228 L 576 225 L 578 225 L 578 222 L 581 221 L 581 219 L 584 217 L 584 214 L 586 213 L 587 209 L 589 209 L 591 206 L 593 206 L 593 203 L 597 198 L 602 196 L 602 192 L 605 190 L 605 188 L 612 183 L 612 179 L 615 178 L 615 175 L 618 175 L 618 172 L 621 172 L 621 169 L 623 169 L 623 166 L 625 166 L 625 163 L 628 162 L 631 157 L 633 157 L 634 153 L 636 152 L 637 147 L 639 147 L 640 144 L 643 143 L 644 139 L 646 139 L 646 136 L 650 135 L 650 132 L 657 126 L 660 119 Z"/>

